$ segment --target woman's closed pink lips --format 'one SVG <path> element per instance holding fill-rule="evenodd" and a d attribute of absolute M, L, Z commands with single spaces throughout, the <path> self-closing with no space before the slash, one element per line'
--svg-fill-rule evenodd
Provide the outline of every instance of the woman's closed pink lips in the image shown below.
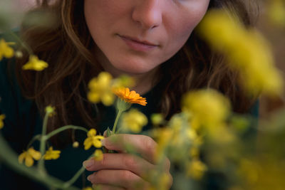
<path fill-rule="evenodd" d="M 127 46 L 129 46 L 129 48 L 135 51 L 150 51 L 158 47 L 158 45 L 150 43 L 149 41 L 140 41 L 138 38 L 129 36 L 118 36 L 126 43 Z"/>

